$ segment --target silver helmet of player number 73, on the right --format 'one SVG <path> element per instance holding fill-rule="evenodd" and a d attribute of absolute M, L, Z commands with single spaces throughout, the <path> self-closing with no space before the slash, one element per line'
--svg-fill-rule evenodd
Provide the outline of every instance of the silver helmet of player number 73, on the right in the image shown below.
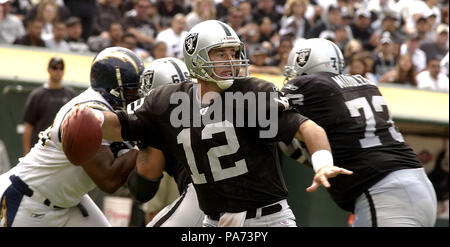
<path fill-rule="evenodd" d="M 317 72 L 341 74 L 344 55 L 332 41 L 321 38 L 301 41 L 289 53 L 283 75 L 286 79 Z"/>

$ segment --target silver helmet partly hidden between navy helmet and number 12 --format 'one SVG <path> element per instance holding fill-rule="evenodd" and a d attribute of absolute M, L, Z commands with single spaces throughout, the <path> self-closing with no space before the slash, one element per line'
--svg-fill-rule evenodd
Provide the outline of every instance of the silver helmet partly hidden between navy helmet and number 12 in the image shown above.
<path fill-rule="evenodd" d="M 141 94 L 146 96 L 162 85 L 190 82 L 186 65 L 177 58 L 165 57 L 149 63 L 141 75 Z"/>

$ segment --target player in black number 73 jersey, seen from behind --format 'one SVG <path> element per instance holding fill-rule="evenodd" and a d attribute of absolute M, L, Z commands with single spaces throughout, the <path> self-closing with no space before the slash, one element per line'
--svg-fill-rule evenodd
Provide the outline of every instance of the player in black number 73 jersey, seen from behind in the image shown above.
<path fill-rule="evenodd" d="M 323 127 L 334 162 L 354 172 L 330 179 L 333 200 L 355 226 L 434 226 L 436 196 L 422 165 L 392 121 L 376 84 L 343 75 L 344 58 L 326 39 L 294 48 L 282 92 Z M 306 159 L 305 159 L 306 160 Z"/>

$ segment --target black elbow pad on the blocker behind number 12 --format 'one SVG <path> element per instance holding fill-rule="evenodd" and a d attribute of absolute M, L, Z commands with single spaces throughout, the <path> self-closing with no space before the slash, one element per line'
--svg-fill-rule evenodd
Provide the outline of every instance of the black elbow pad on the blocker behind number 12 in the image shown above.
<path fill-rule="evenodd" d="M 156 194 L 163 175 L 158 179 L 148 179 L 137 173 L 136 168 L 128 179 L 128 189 L 139 202 L 148 202 Z"/>

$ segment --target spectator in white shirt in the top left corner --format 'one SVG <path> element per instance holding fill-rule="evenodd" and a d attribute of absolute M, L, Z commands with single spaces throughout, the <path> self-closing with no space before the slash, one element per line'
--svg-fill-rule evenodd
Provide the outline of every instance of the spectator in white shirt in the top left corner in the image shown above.
<path fill-rule="evenodd" d="M 0 44 L 12 44 L 24 35 L 22 22 L 11 14 L 11 0 L 0 0 Z"/>

